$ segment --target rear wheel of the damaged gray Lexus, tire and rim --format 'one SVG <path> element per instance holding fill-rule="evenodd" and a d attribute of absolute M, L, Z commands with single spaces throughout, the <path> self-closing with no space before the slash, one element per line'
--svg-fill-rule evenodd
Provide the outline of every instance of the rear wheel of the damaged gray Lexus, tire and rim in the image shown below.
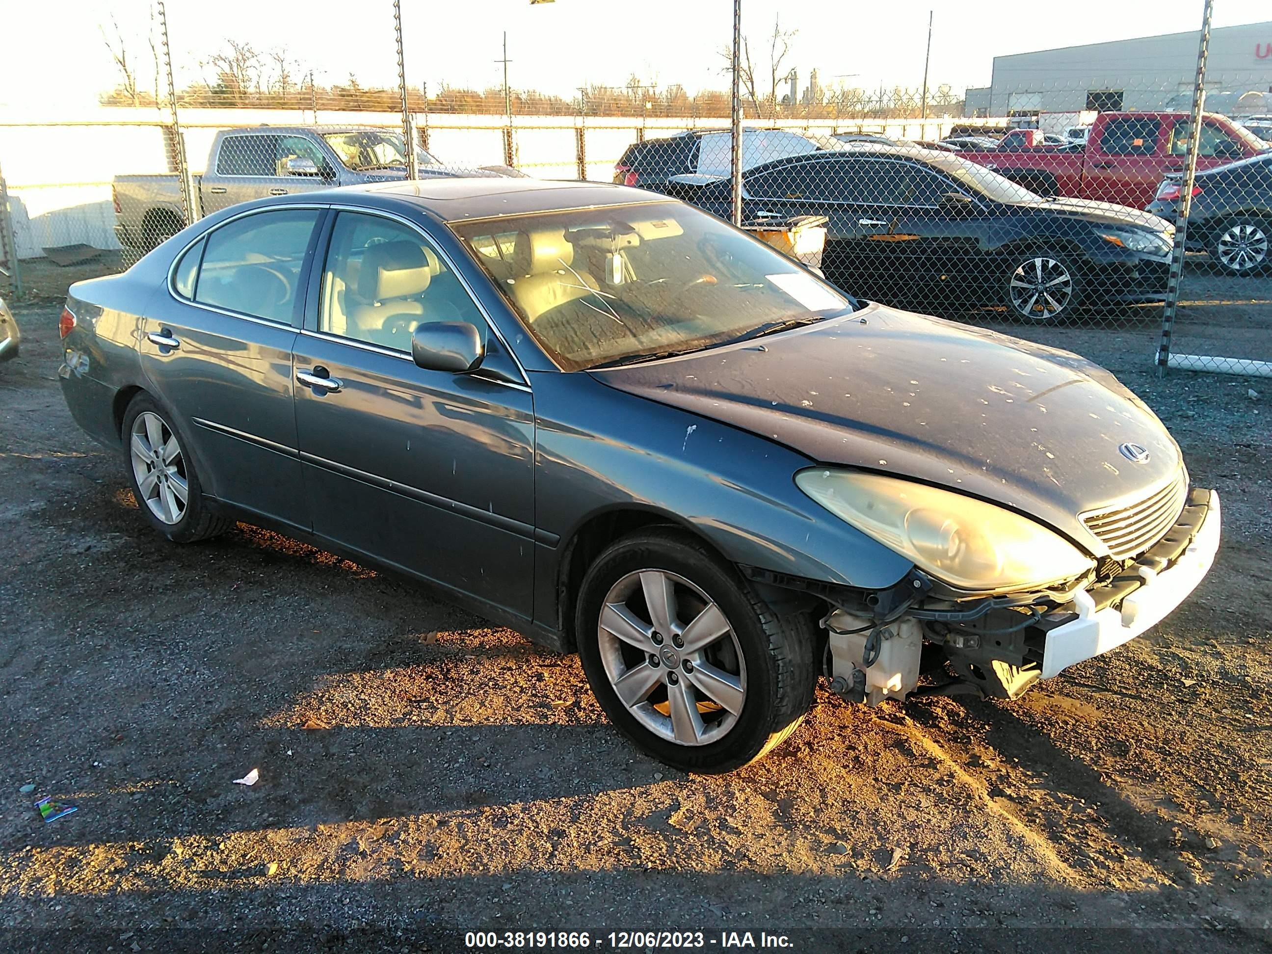
<path fill-rule="evenodd" d="M 151 527 L 170 541 L 191 543 L 234 525 L 209 513 L 188 443 L 153 397 L 141 393 L 132 399 L 122 438 L 132 495 Z"/>

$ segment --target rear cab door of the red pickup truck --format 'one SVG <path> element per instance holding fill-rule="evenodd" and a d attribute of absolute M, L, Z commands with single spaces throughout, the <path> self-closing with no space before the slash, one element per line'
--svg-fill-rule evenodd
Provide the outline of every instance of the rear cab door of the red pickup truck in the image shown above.
<path fill-rule="evenodd" d="M 1086 149 L 1082 198 L 1144 209 L 1166 167 L 1159 116 L 1113 116 Z"/>

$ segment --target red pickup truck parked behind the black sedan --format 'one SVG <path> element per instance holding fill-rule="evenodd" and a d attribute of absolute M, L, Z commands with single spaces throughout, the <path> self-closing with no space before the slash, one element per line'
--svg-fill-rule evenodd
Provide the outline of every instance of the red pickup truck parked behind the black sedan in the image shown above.
<path fill-rule="evenodd" d="M 1188 113 L 1100 113 L 1086 146 L 1015 146 L 959 153 L 1043 196 L 1071 196 L 1147 206 L 1158 183 L 1183 168 L 1188 148 Z M 1197 168 L 1244 159 L 1267 144 L 1226 116 L 1206 113 Z"/>

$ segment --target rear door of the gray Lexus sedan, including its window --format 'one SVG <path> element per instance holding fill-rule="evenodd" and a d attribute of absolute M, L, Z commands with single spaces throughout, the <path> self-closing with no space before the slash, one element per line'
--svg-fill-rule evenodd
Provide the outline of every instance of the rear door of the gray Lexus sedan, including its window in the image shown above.
<path fill-rule="evenodd" d="M 249 212 L 191 245 L 139 336 L 151 389 L 177 415 L 215 497 L 309 529 L 291 345 L 326 211 Z"/>

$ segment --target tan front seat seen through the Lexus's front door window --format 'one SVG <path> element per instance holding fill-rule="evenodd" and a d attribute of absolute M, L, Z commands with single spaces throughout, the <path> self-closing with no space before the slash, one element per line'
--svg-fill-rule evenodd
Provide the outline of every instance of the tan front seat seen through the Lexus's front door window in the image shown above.
<path fill-rule="evenodd" d="M 371 245 L 363 254 L 355 294 L 345 290 L 346 328 L 336 333 L 399 347 L 399 336 L 385 326 L 398 318 L 425 319 L 422 295 L 440 268 L 438 257 L 415 242 Z"/>

